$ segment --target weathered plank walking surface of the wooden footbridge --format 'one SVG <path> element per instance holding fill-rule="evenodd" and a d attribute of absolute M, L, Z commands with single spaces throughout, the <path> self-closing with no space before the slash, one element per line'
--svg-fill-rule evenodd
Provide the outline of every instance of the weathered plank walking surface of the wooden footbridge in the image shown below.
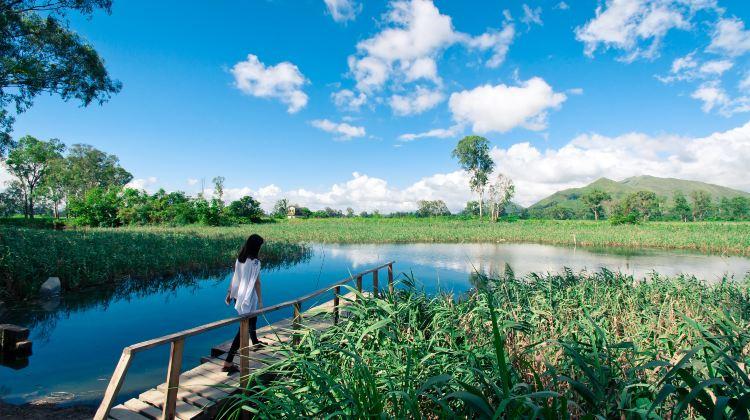
<path fill-rule="evenodd" d="M 294 339 L 295 334 L 292 329 L 294 325 L 298 326 L 298 332 L 306 329 L 322 331 L 334 323 L 332 317 L 334 305 L 344 306 L 353 299 L 354 294 L 342 295 L 341 299 L 337 299 L 336 302 L 331 300 L 306 311 L 300 310 L 297 322 L 289 318 L 258 328 L 258 338 L 267 345 L 248 352 L 248 357 L 245 359 L 247 370 L 252 373 L 284 357 L 279 351 L 282 348 L 280 344 Z M 344 318 L 344 311 L 341 311 L 341 317 Z M 138 398 L 132 398 L 112 407 L 109 418 L 117 420 L 161 419 L 167 413 L 174 413 L 174 418 L 181 420 L 213 418 L 219 410 L 222 399 L 237 392 L 240 386 L 241 375 L 239 373 L 227 375 L 221 370 L 231 344 L 232 340 L 228 340 L 212 348 L 210 354 L 201 359 L 200 365 L 182 372 L 179 375 L 179 381 L 176 375 L 174 377 L 168 375 L 171 379 L 169 382 L 179 383 L 176 388 L 170 387 L 168 383 L 162 383 L 143 392 Z M 181 352 L 182 346 L 178 344 L 171 350 L 173 353 Z M 120 362 L 120 365 L 123 365 L 130 361 L 121 360 Z M 240 352 L 238 352 L 234 364 L 240 367 L 242 362 Z M 174 370 L 179 371 L 179 366 L 175 366 Z M 168 407 L 165 404 L 168 393 L 173 393 L 176 397 L 174 407 Z"/>

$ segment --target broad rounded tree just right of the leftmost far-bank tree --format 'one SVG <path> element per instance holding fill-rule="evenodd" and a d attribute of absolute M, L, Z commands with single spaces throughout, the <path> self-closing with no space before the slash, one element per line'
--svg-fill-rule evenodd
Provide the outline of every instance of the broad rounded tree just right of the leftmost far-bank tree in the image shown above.
<path fill-rule="evenodd" d="M 74 144 L 65 158 L 66 194 L 82 198 L 92 188 L 124 187 L 133 175 L 120 166 L 120 159 L 88 144 Z"/>

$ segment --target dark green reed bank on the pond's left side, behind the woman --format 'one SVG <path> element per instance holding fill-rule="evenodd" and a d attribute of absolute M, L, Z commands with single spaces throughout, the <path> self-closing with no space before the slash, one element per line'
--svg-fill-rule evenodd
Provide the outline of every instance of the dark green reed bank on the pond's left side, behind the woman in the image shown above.
<path fill-rule="evenodd" d="M 0 297 L 33 297 L 48 277 L 64 290 L 126 278 L 173 276 L 232 266 L 247 235 L 240 230 L 172 231 L 0 228 Z M 264 245 L 266 267 L 308 255 L 302 245 Z"/>

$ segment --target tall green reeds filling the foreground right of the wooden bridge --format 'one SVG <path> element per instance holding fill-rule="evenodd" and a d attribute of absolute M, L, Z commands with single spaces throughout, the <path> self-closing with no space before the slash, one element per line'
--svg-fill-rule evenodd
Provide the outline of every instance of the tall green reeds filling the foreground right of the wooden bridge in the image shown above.
<path fill-rule="evenodd" d="M 747 418 L 750 279 L 477 278 L 364 299 L 253 376 L 258 418 Z M 744 416 L 744 417 L 743 417 Z"/>

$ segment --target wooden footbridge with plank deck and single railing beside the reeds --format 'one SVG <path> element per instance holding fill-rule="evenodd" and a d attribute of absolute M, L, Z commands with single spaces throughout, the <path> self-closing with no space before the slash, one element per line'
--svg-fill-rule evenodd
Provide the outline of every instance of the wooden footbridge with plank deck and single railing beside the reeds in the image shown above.
<path fill-rule="evenodd" d="M 245 388 L 249 375 L 254 370 L 265 367 L 274 360 L 283 357 L 281 352 L 279 352 L 281 344 L 288 342 L 291 342 L 292 345 L 296 344 L 299 340 L 298 333 L 303 328 L 323 330 L 339 322 L 342 314 L 341 308 L 347 302 L 354 299 L 355 296 L 354 294 L 341 295 L 341 286 L 354 281 L 356 282 L 357 290 L 362 293 L 362 278 L 372 274 L 372 293 L 374 296 L 377 296 L 379 290 L 378 272 L 382 269 L 387 269 L 388 288 L 390 291 L 393 291 L 393 263 L 394 261 L 390 261 L 370 268 L 308 295 L 268 306 L 244 316 L 215 321 L 210 324 L 125 347 L 122 350 L 120 361 L 117 363 L 117 367 L 115 367 L 115 371 L 104 392 L 102 403 L 96 411 L 94 419 L 144 420 L 178 418 L 189 420 L 212 418 L 217 413 L 222 399 L 229 396 L 235 390 Z M 304 312 L 302 311 L 302 304 L 304 302 L 330 290 L 334 292 L 333 300 L 309 308 Z M 261 341 L 269 345 L 262 350 L 253 351 L 253 356 L 251 356 L 250 318 L 289 307 L 293 308 L 292 318 L 284 319 L 258 329 L 258 337 Z M 325 316 L 329 311 L 333 313 L 333 317 Z M 235 323 L 240 324 L 239 373 L 227 375 L 221 370 L 231 340 L 211 349 L 211 353 L 204 357 L 201 360 L 201 364 L 196 368 L 182 372 L 182 352 L 185 346 L 185 339 Z M 120 388 L 125 381 L 125 376 L 133 357 L 140 352 L 165 344 L 170 345 L 166 381 L 153 389 L 143 392 L 138 398 L 130 399 L 123 404 L 113 407 Z"/>

